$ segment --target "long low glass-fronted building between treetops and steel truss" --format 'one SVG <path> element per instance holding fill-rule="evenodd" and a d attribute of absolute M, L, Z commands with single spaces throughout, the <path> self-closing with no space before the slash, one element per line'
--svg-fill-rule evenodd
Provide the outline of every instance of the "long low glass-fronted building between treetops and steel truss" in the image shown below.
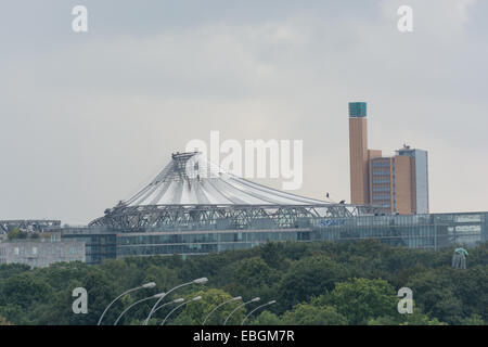
<path fill-rule="evenodd" d="M 262 223 L 261 223 L 262 222 Z M 488 213 L 382 215 L 348 218 L 298 218 L 287 228 L 256 219 L 249 229 L 229 228 L 227 220 L 127 232 L 107 228 L 67 228 L 63 239 L 85 241 L 86 261 L 129 256 L 204 255 L 247 249 L 266 242 L 355 242 L 364 239 L 424 249 L 475 246 L 488 240 Z"/>

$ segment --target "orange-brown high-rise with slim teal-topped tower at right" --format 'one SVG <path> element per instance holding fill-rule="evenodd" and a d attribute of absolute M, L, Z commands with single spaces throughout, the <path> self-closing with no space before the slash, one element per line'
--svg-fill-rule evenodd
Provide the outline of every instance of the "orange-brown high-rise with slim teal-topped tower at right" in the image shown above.
<path fill-rule="evenodd" d="M 428 214 L 427 152 L 404 145 L 393 157 L 368 149 L 367 103 L 349 103 L 350 200 L 384 213 Z"/>

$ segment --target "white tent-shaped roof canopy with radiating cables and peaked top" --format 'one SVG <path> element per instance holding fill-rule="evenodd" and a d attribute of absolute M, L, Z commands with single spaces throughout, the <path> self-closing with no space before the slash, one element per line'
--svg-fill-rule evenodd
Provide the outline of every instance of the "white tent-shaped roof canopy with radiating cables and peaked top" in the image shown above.
<path fill-rule="evenodd" d="M 171 162 L 140 192 L 121 202 L 149 205 L 323 205 L 243 179 L 208 162 L 200 152 L 172 154 Z"/>

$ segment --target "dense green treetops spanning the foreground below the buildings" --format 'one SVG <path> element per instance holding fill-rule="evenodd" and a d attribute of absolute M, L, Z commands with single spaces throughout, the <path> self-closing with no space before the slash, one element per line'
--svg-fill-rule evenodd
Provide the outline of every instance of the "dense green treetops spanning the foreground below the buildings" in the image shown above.
<path fill-rule="evenodd" d="M 42 269 L 0 266 L 0 324 L 97 324 L 120 293 L 154 281 L 117 301 L 103 323 L 113 324 L 130 304 L 206 277 L 205 285 L 176 291 L 166 301 L 202 295 L 175 311 L 168 324 L 202 324 L 217 305 L 234 296 L 261 300 L 241 308 L 228 324 L 487 324 L 488 244 L 470 249 L 467 269 L 451 269 L 453 248 L 440 252 L 396 248 L 375 241 L 356 243 L 267 243 L 246 250 L 182 259 L 131 257 L 98 266 L 56 264 Z M 413 291 L 412 314 L 397 311 L 400 287 Z M 73 290 L 88 292 L 88 313 L 73 312 Z M 155 300 L 134 306 L 121 324 L 141 324 Z M 207 324 L 222 324 L 242 301 L 216 310 Z M 156 312 L 158 324 L 175 307 Z"/>

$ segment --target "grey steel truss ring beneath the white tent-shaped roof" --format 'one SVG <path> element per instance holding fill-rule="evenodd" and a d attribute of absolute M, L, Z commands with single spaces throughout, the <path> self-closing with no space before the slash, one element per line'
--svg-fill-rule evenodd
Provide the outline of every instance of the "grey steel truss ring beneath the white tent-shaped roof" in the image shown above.
<path fill-rule="evenodd" d="M 355 217 L 372 215 L 371 206 L 323 205 L 119 205 L 105 211 L 105 216 L 89 223 L 90 227 L 108 227 L 119 231 L 216 229 L 218 221 L 226 228 L 249 229 L 257 223 L 270 227 L 294 228 L 298 218 Z"/>

